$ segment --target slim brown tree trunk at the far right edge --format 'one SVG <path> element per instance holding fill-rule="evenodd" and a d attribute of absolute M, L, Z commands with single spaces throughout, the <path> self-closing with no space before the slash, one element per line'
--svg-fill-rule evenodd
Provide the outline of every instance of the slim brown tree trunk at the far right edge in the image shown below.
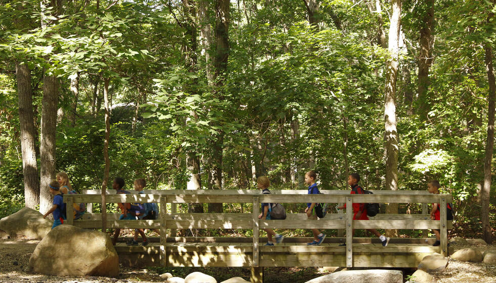
<path fill-rule="evenodd" d="M 493 4 L 496 1 L 493 0 Z M 487 22 L 493 17 L 491 12 L 488 16 Z M 492 151 L 494 148 L 494 97 L 496 93 L 496 82 L 494 81 L 494 70 L 492 67 L 492 47 L 491 43 L 485 43 L 485 64 L 487 72 L 487 80 L 489 83 L 489 93 L 487 96 L 487 101 L 489 108 L 487 111 L 487 141 L 486 150 L 484 158 L 484 184 L 482 190 L 480 191 L 480 201 L 481 201 L 481 220 L 482 220 L 482 234 L 484 241 L 487 244 L 492 243 L 492 229 L 489 222 L 489 199 L 491 193 L 491 162 L 492 162 Z"/>

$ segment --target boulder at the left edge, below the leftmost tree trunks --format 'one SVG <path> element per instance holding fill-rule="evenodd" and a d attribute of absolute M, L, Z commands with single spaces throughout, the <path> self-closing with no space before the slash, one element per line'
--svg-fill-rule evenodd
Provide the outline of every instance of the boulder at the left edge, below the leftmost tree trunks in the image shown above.
<path fill-rule="evenodd" d="M 0 219 L 0 230 L 10 237 L 22 235 L 30 239 L 43 239 L 52 229 L 52 225 L 52 221 L 43 218 L 43 214 L 29 207 Z"/>

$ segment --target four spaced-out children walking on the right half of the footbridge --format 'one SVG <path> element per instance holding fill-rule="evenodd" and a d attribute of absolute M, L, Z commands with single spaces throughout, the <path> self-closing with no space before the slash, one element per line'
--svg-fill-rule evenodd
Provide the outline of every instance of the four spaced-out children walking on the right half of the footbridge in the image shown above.
<path fill-rule="evenodd" d="M 314 171 L 308 171 L 305 174 L 305 183 L 308 185 L 308 194 L 309 195 L 318 195 L 320 194 L 320 191 L 317 188 L 316 184 L 316 178 L 317 174 Z M 363 188 L 358 184 L 360 181 L 360 175 L 357 173 L 352 173 L 348 176 L 348 185 L 351 187 L 351 194 L 364 194 Z M 268 187 L 270 185 L 270 181 L 266 176 L 261 176 L 257 179 L 257 186 L 262 190 L 262 194 L 270 194 L 270 191 L 268 190 Z M 431 194 L 439 194 L 439 181 L 437 180 L 432 180 L 428 183 L 428 191 Z M 262 203 L 261 204 L 261 210 L 262 213 L 258 216 L 260 219 L 270 219 L 270 212 L 269 212 L 269 207 L 270 204 L 267 203 Z M 317 203 L 307 203 L 307 208 L 305 209 L 305 213 L 307 214 L 308 220 L 316 220 L 317 215 L 314 213 L 315 206 Z M 336 209 L 345 209 L 346 204 L 343 206 L 337 206 Z M 363 203 L 353 203 L 353 220 L 368 220 L 367 217 L 367 209 L 365 204 Z M 452 220 L 452 205 L 447 204 L 447 219 Z M 440 220 L 440 213 L 439 213 L 439 204 L 433 204 L 433 208 L 431 211 L 431 219 L 432 220 Z M 276 240 L 276 243 L 281 243 L 282 240 L 284 239 L 283 235 L 277 234 L 274 232 L 272 229 L 264 229 L 267 232 L 267 244 L 265 246 L 274 246 L 273 243 L 273 237 Z M 383 234 L 379 233 L 376 229 L 366 229 L 367 231 L 375 234 L 380 240 L 383 245 L 383 247 L 386 247 L 389 244 L 389 237 L 385 237 Z M 440 245 L 440 233 L 439 230 L 433 230 L 433 232 L 436 235 L 436 242 L 434 243 L 433 246 L 439 246 Z M 313 241 L 308 243 L 308 246 L 318 246 L 322 244 L 324 241 L 326 235 L 324 233 L 321 233 L 318 229 L 312 229 L 313 233 Z M 352 230 L 352 233 L 355 234 L 355 229 Z M 339 246 L 346 246 L 345 243 L 340 244 Z"/>

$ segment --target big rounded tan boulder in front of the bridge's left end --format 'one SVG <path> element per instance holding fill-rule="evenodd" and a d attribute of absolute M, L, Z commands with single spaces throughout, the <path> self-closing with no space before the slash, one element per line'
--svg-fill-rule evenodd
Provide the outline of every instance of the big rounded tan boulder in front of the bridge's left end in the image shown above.
<path fill-rule="evenodd" d="M 66 224 L 55 227 L 39 242 L 29 265 L 46 275 L 119 274 L 119 258 L 108 234 Z"/>

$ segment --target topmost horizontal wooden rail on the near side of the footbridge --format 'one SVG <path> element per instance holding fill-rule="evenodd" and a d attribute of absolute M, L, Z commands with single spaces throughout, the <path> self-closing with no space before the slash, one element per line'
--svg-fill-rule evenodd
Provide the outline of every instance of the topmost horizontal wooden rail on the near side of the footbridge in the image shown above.
<path fill-rule="evenodd" d="M 440 196 L 446 196 L 446 201 L 452 200 L 451 195 L 347 195 L 353 198 L 354 203 L 429 203 L 439 200 Z M 74 202 L 93 202 L 101 201 L 101 196 L 98 195 L 71 195 Z M 66 200 L 67 195 L 64 195 Z M 326 202 L 339 203 L 345 200 L 346 195 L 260 195 L 259 201 L 262 203 L 306 203 L 306 202 Z M 137 202 L 137 203 L 158 203 L 160 195 L 133 195 L 133 194 L 118 194 L 109 195 L 106 198 L 107 203 L 118 202 Z M 251 203 L 252 196 L 250 195 L 171 195 L 168 196 L 170 203 Z"/>

